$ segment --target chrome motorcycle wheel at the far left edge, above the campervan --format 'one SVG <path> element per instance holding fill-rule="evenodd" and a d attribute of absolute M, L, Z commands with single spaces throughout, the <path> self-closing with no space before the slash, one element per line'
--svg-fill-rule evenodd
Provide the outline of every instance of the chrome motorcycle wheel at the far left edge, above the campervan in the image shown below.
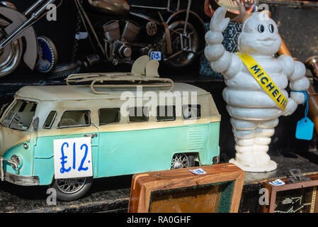
<path fill-rule="evenodd" d="M 6 26 L 8 26 L 8 23 L 0 18 L 0 42 L 7 37 L 4 31 Z M 22 50 L 21 38 L 9 43 L 6 48 L 0 50 L 0 77 L 5 77 L 16 70 L 21 62 Z"/>

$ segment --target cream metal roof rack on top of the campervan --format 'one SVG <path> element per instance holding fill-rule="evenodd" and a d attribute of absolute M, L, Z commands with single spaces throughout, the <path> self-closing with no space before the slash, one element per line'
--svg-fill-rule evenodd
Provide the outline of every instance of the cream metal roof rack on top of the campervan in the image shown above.
<path fill-rule="evenodd" d="M 109 94 L 103 89 L 111 88 L 131 88 L 131 87 L 167 87 L 171 92 L 174 89 L 174 81 L 168 78 L 149 77 L 130 72 L 110 72 L 110 73 L 86 73 L 72 74 L 67 77 L 67 85 L 90 84 L 91 91 L 94 94 Z M 125 83 L 127 82 L 127 83 Z M 96 90 L 98 89 L 98 91 Z"/>

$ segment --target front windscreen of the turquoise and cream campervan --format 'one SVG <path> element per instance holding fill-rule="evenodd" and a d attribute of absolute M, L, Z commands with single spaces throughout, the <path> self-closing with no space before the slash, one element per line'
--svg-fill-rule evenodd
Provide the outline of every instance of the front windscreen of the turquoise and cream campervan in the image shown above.
<path fill-rule="evenodd" d="M 21 131 L 28 130 L 32 123 L 36 106 L 37 104 L 33 101 L 17 100 L 2 118 L 1 126 Z"/>

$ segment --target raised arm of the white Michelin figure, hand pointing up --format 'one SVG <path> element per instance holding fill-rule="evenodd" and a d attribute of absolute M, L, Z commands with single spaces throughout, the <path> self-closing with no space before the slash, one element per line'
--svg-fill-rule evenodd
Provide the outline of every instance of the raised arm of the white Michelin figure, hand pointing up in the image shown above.
<path fill-rule="evenodd" d="M 205 48 L 205 57 L 210 61 L 210 66 L 215 72 L 221 72 L 226 79 L 231 79 L 237 75 L 241 60 L 237 55 L 229 53 L 222 45 L 223 35 L 229 18 L 225 18 L 227 9 L 218 8 L 212 16 L 210 31 L 205 35 L 205 41 L 208 44 Z"/>

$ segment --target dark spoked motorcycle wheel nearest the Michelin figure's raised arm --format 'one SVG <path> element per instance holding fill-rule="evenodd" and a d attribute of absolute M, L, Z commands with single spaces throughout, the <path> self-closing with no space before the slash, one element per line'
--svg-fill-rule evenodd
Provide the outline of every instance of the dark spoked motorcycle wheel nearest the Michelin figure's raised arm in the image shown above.
<path fill-rule="evenodd" d="M 170 36 L 171 36 L 171 55 L 167 56 L 166 48 L 166 35 L 164 35 L 163 52 L 166 56 L 166 65 L 174 69 L 181 69 L 190 66 L 196 59 L 197 55 L 195 52 L 198 51 L 200 46 L 200 40 L 198 32 L 191 25 L 187 23 L 186 35 L 183 34 L 185 21 L 175 21 L 169 25 Z M 181 39 L 182 37 L 182 39 Z M 181 43 L 183 43 L 183 50 L 181 48 Z"/>

